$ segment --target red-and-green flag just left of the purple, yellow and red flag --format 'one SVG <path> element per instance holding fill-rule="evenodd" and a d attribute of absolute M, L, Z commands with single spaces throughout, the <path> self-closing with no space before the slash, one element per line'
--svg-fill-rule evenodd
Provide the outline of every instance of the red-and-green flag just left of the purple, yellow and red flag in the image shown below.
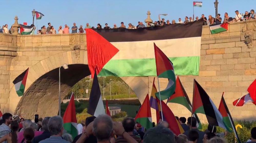
<path fill-rule="evenodd" d="M 153 127 L 148 94 L 135 117 L 135 121 L 140 123 L 146 129 Z"/>

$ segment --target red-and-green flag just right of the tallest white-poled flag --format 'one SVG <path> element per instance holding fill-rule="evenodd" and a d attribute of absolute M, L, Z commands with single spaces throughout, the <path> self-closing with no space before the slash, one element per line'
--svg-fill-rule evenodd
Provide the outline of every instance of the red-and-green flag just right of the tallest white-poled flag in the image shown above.
<path fill-rule="evenodd" d="M 171 103 L 178 103 L 180 105 L 185 106 L 190 112 L 192 110 L 192 105 L 191 102 L 188 98 L 188 95 L 179 79 L 179 76 L 177 76 L 176 78 L 176 88 L 175 88 L 175 92 L 173 95 L 170 96 L 170 98 L 168 99 L 168 102 Z M 202 125 L 200 123 L 200 120 L 197 116 L 197 114 L 193 114 L 193 116 L 197 119 L 197 128 L 201 129 Z"/>

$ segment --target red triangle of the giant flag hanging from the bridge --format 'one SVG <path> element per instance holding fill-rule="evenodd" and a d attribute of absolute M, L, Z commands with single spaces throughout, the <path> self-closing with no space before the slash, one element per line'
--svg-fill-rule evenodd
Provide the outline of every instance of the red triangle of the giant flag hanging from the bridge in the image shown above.
<path fill-rule="evenodd" d="M 119 51 L 108 40 L 91 28 L 86 29 L 88 66 L 92 78 L 97 66 L 97 75 L 105 64 Z"/>

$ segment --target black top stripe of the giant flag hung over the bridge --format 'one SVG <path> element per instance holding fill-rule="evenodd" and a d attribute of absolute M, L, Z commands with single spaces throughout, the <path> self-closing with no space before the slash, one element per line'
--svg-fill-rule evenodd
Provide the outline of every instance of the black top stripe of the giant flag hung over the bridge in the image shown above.
<path fill-rule="evenodd" d="M 152 41 L 201 37 L 203 20 L 138 29 L 93 29 L 109 42 Z"/>

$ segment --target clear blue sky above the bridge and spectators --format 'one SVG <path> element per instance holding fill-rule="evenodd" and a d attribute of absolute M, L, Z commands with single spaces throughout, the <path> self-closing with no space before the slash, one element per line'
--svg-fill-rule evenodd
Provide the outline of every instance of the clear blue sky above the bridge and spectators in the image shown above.
<path fill-rule="evenodd" d="M 201 14 L 205 14 L 207 18 L 208 15 L 215 17 L 214 0 L 202 0 L 202 2 L 202 7 L 195 7 L 195 17 L 200 18 Z M 97 23 L 103 27 L 105 23 L 108 23 L 110 27 L 116 23 L 119 27 L 120 22 L 123 21 L 127 27 L 128 23 L 137 25 L 138 21 L 144 21 L 148 10 L 151 11 L 153 21 L 158 20 L 158 14 L 168 14 L 161 18 L 170 21 L 173 19 L 178 21 L 178 18 L 184 21 L 185 16 L 193 16 L 193 0 L 5 0 L 1 1 L 1 5 L 0 24 L 8 24 L 8 28 L 14 23 L 15 15 L 18 16 L 19 23 L 32 24 L 31 11 L 33 9 L 45 15 L 37 20 L 39 29 L 42 25 L 47 27 L 48 22 L 55 29 L 58 29 L 60 25 L 64 27 L 65 24 L 68 24 L 71 29 L 73 22 L 83 27 L 87 22 L 94 27 Z M 222 18 L 225 12 L 234 17 L 235 10 L 244 13 L 253 8 L 256 8 L 255 5 L 246 5 L 239 0 L 219 0 L 218 12 Z"/>

